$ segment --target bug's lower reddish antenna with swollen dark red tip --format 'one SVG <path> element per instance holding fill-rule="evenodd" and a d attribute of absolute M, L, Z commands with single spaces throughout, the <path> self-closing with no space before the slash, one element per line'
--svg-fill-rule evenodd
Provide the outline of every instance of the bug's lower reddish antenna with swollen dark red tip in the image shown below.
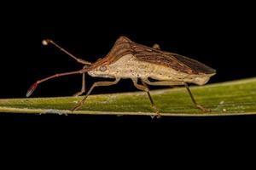
<path fill-rule="evenodd" d="M 82 74 L 84 73 L 84 69 L 80 70 L 80 71 L 71 71 L 71 72 L 64 72 L 64 73 L 60 73 L 60 74 L 55 74 L 51 77 L 46 77 L 44 79 L 38 80 L 37 82 L 33 83 L 32 86 L 30 88 L 28 88 L 27 92 L 26 92 L 26 97 L 29 97 L 33 91 L 38 87 L 38 84 L 48 81 L 49 79 L 53 79 L 56 77 L 64 77 L 64 76 L 68 76 L 68 75 L 74 75 L 74 74 Z"/>

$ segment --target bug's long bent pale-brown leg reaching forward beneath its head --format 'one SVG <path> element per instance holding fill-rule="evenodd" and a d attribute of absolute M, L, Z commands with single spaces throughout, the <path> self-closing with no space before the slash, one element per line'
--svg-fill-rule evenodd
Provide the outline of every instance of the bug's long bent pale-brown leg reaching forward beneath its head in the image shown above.
<path fill-rule="evenodd" d="M 87 94 L 84 96 L 84 98 L 81 101 L 79 101 L 79 104 L 75 105 L 71 111 L 78 110 L 84 104 L 84 101 L 90 95 L 93 88 L 96 88 L 99 86 L 111 86 L 111 85 L 118 83 L 119 80 L 120 80 L 120 78 L 116 78 L 114 82 L 94 82 L 94 84 L 90 87 L 90 90 L 87 92 Z"/>

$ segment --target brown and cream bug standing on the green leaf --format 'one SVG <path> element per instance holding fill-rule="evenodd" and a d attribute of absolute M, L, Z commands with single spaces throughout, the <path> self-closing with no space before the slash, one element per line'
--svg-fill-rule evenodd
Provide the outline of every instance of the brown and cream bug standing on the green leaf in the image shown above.
<path fill-rule="evenodd" d="M 121 78 L 130 78 L 134 86 L 143 90 L 148 94 L 148 99 L 154 112 L 160 116 L 159 110 L 154 105 L 147 85 L 153 86 L 178 86 L 183 85 L 189 92 L 189 96 L 192 99 L 195 107 L 202 111 L 208 111 L 203 106 L 198 105 L 191 93 L 188 83 L 195 83 L 197 85 L 204 85 L 208 82 L 210 77 L 216 74 L 216 71 L 211 67 L 196 61 L 195 59 L 189 59 L 183 55 L 174 54 L 160 50 L 158 45 L 154 45 L 153 48 L 132 42 L 127 37 L 119 37 L 114 43 L 110 52 L 102 59 L 98 59 L 95 63 L 90 63 L 84 59 L 79 59 L 73 54 L 70 54 L 64 48 L 61 48 L 58 44 L 52 40 L 44 40 L 43 44 L 54 45 L 62 52 L 68 54 L 73 59 L 76 59 L 80 64 L 84 65 L 84 68 L 79 71 L 71 71 L 60 74 L 55 74 L 51 77 L 46 77 L 42 80 L 38 80 L 32 84 L 28 89 L 26 97 L 29 97 L 32 92 L 38 87 L 38 84 L 53 79 L 55 77 L 63 77 L 74 74 L 82 75 L 82 88 L 76 96 L 84 94 L 85 92 L 85 73 L 87 72 L 91 77 L 108 77 L 113 78 L 113 82 L 95 82 L 84 96 L 84 98 L 75 105 L 72 111 L 78 110 L 84 101 L 90 95 L 92 90 L 100 86 L 110 86 L 119 82 Z M 150 78 L 150 79 L 149 79 Z M 141 84 L 138 80 L 141 80 Z M 154 81 L 151 81 L 154 79 Z"/>

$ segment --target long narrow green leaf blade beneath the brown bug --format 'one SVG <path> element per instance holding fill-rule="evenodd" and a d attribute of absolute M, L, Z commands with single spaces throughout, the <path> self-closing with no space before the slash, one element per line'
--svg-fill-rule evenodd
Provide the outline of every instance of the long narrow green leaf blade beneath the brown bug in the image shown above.
<path fill-rule="evenodd" d="M 195 100 L 211 112 L 195 108 L 185 88 L 151 91 L 162 116 L 226 116 L 256 114 L 256 78 L 191 87 Z M 82 97 L 0 99 L 0 112 L 37 114 L 154 115 L 144 92 L 90 95 L 79 111 L 69 111 Z"/>

